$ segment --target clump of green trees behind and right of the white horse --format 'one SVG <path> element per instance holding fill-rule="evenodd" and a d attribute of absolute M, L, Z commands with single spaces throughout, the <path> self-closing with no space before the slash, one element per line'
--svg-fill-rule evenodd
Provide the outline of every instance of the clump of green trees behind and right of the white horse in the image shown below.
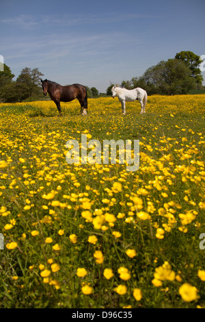
<path fill-rule="evenodd" d="M 118 86 L 129 90 L 141 87 L 148 95 L 180 95 L 190 90 L 204 90 L 202 73 L 199 65 L 203 62 L 200 56 L 192 51 L 180 51 L 175 58 L 162 60 L 148 68 L 141 77 L 123 80 Z M 111 84 L 107 95 L 111 95 Z"/>

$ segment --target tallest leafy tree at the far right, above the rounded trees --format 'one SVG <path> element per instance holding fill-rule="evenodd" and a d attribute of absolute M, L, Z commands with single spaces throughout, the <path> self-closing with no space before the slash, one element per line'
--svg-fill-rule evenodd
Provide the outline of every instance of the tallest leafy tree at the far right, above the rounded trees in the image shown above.
<path fill-rule="evenodd" d="M 195 55 L 192 51 L 180 51 L 180 53 L 176 53 L 176 59 L 182 60 L 190 69 L 191 76 L 197 82 L 197 85 L 202 85 L 203 77 L 199 68 L 199 65 L 203 60 L 200 56 Z"/>

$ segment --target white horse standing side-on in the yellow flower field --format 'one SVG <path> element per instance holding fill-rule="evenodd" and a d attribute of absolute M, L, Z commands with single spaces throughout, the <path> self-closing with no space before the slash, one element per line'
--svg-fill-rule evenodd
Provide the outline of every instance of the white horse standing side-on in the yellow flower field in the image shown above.
<path fill-rule="evenodd" d="M 119 101 L 122 104 L 122 114 L 126 114 L 125 112 L 125 102 L 126 101 L 136 101 L 136 99 L 139 100 L 139 103 L 141 104 L 141 113 L 145 113 L 146 103 L 148 101 L 148 95 L 146 90 L 143 90 L 142 88 L 134 88 L 133 90 L 127 90 L 126 88 L 120 88 L 113 86 L 111 88 L 113 99 L 115 96 L 118 97 Z"/>

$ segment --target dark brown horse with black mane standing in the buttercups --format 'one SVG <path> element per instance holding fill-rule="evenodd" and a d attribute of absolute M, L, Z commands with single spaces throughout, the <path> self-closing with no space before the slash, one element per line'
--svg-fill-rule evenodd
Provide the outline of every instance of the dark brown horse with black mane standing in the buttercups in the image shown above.
<path fill-rule="evenodd" d="M 55 82 L 47 79 L 40 79 L 42 82 L 42 90 L 46 96 L 49 93 L 52 101 L 55 102 L 59 115 L 62 114 L 60 102 L 70 102 L 73 99 L 78 99 L 81 104 L 81 114 L 87 115 L 87 90 L 81 84 L 73 84 L 68 86 L 61 86 Z"/>

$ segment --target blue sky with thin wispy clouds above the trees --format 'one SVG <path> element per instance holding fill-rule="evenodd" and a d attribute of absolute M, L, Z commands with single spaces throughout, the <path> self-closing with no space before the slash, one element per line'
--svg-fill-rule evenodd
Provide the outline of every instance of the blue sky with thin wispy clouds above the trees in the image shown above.
<path fill-rule="evenodd" d="M 0 55 L 105 92 L 180 51 L 205 55 L 204 0 L 1 0 Z M 202 73 L 205 80 L 205 73 Z"/>

